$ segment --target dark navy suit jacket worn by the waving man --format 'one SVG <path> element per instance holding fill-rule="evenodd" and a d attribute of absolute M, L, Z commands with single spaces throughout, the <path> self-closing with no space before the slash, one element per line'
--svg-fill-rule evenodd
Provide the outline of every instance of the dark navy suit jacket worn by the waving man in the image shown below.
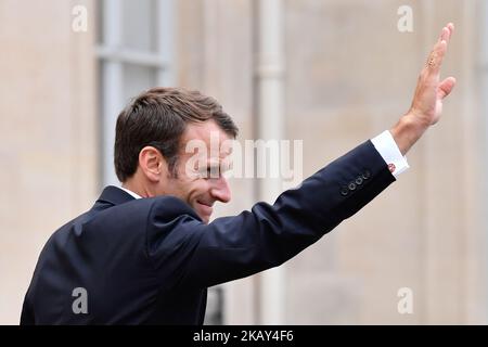
<path fill-rule="evenodd" d="M 208 286 L 283 264 L 394 180 L 367 141 L 273 205 L 209 224 L 176 197 L 107 187 L 46 244 L 21 324 L 202 324 Z M 88 313 L 73 310 L 77 287 Z"/>

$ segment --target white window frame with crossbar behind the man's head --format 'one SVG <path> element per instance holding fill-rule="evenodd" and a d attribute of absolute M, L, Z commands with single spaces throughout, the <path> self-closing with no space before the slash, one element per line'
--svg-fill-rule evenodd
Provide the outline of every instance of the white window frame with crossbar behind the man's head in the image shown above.
<path fill-rule="evenodd" d="M 175 0 L 155 1 L 157 48 L 154 52 L 128 48 L 123 42 L 123 2 L 103 0 L 101 25 L 102 42 L 95 46 L 95 55 L 101 64 L 101 145 L 102 164 L 101 181 L 103 185 L 118 185 L 113 156 L 115 141 L 115 124 L 120 110 L 127 102 L 124 100 L 124 64 L 140 67 L 152 67 L 157 70 L 158 86 L 175 85 Z M 118 87 L 117 87 L 118 86 Z M 117 88 L 115 88 L 117 87 Z"/>

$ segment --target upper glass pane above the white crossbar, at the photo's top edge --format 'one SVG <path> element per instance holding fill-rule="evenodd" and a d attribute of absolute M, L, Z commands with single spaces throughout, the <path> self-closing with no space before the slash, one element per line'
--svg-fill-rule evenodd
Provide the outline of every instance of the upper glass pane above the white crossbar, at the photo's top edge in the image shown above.
<path fill-rule="evenodd" d="M 123 0 L 123 44 L 130 49 L 157 50 L 155 0 Z"/>

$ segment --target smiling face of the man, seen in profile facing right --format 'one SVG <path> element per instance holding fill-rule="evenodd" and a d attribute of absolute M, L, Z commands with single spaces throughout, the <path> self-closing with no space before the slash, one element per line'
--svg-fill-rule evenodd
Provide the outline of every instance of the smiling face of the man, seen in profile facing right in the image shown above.
<path fill-rule="evenodd" d="M 160 182 L 164 194 L 187 202 L 206 223 L 215 202 L 228 203 L 231 200 L 228 181 L 222 175 L 229 167 L 232 152 L 229 143 L 231 139 L 214 120 L 187 125 L 177 175 Z"/>

